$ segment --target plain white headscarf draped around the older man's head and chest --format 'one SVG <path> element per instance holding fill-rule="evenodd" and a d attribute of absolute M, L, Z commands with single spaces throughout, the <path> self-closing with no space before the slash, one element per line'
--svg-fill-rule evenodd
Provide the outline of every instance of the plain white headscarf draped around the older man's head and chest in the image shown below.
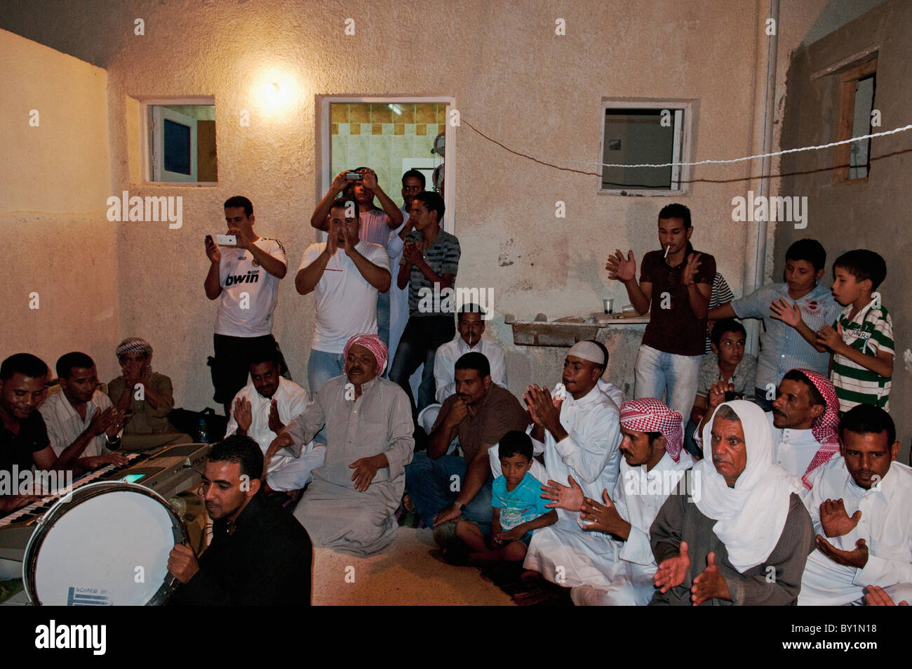
<path fill-rule="evenodd" d="M 791 493 L 801 493 L 802 483 L 779 465 L 772 465 L 770 422 L 753 402 L 735 400 L 716 408 L 703 426 L 703 444 L 711 441 L 712 422 L 723 406 L 731 407 L 741 419 L 747 464 L 734 487 L 716 471 L 711 452 L 694 465 L 700 496 L 694 503 L 716 524 L 712 531 L 725 544 L 731 565 L 743 573 L 770 557 L 789 515 Z"/>

